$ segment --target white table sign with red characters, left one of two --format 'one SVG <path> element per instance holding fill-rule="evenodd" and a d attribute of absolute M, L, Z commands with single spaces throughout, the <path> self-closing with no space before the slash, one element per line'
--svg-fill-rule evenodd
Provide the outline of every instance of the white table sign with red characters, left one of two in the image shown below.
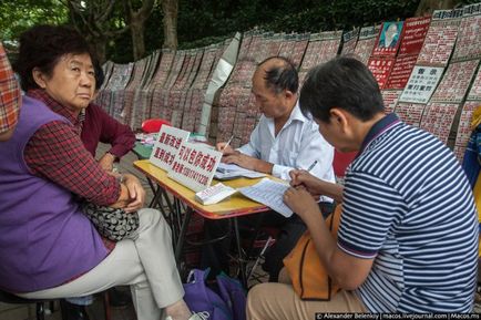
<path fill-rule="evenodd" d="M 155 138 L 150 162 L 157 167 L 170 172 L 181 145 L 187 141 L 188 131 L 163 125 Z"/>

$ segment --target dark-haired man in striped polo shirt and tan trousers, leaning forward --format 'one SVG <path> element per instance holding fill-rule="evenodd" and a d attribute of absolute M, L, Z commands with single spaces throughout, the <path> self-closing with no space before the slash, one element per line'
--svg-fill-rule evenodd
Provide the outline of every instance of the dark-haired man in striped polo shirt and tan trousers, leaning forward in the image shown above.
<path fill-rule="evenodd" d="M 369 70 L 352 58 L 316 66 L 300 93 L 323 136 L 357 151 L 345 186 L 293 172 L 285 203 L 306 223 L 319 258 L 342 290 L 303 301 L 286 283 L 248 295 L 248 319 L 316 319 L 315 312 L 470 312 L 478 221 L 468 180 L 433 135 L 385 114 Z M 337 241 L 313 195 L 342 204 Z M 284 276 L 284 282 L 288 279 Z"/>

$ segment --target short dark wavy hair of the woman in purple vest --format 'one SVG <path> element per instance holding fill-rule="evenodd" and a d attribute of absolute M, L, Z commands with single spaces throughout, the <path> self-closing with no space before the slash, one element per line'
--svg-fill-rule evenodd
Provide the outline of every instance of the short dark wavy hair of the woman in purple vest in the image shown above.
<path fill-rule="evenodd" d="M 20 35 L 19 56 L 13 69 L 23 91 L 28 91 L 39 87 L 32 75 L 34 68 L 51 76 L 61 56 L 83 53 L 92 56 L 85 39 L 75 30 L 63 25 L 35 25 Z"/>

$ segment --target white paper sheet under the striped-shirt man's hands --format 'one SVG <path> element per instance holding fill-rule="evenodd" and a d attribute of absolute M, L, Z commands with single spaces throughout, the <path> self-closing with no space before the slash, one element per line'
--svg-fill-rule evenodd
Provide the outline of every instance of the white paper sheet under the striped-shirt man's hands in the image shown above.
<path fill-rule="evenodd" d="M 288 188 L 288 184 L 278 183 L 269 178 L 263 178 L 255 185 L 238 188 L 237 190 L 244 196 L 266 205 L 288 218 L 293 215 L 293 210 L 284 203 L 284 193 Z"/>

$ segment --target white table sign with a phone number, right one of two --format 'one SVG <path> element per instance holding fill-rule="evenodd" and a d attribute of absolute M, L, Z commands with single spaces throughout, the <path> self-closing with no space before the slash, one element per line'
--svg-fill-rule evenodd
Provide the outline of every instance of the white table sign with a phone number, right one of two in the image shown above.
<path fill-rule="evenodd" d="M 198 193 L 211 186 L 222 153 L 199 144 L 184 142 L 172 164 L 168 177 Z"/>

